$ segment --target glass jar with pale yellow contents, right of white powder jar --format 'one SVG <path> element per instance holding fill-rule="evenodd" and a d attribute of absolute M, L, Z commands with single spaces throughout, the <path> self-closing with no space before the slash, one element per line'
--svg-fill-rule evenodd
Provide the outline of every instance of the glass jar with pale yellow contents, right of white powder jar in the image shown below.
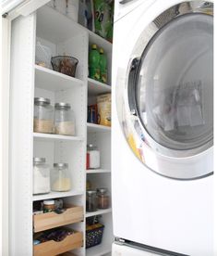
<path fill-rule="evenodd" d="M 52 171 L 52 190 L 53 191 L 69 191 L 71 189 L 71 177 L 67 163 L 54 163 Z"/>

